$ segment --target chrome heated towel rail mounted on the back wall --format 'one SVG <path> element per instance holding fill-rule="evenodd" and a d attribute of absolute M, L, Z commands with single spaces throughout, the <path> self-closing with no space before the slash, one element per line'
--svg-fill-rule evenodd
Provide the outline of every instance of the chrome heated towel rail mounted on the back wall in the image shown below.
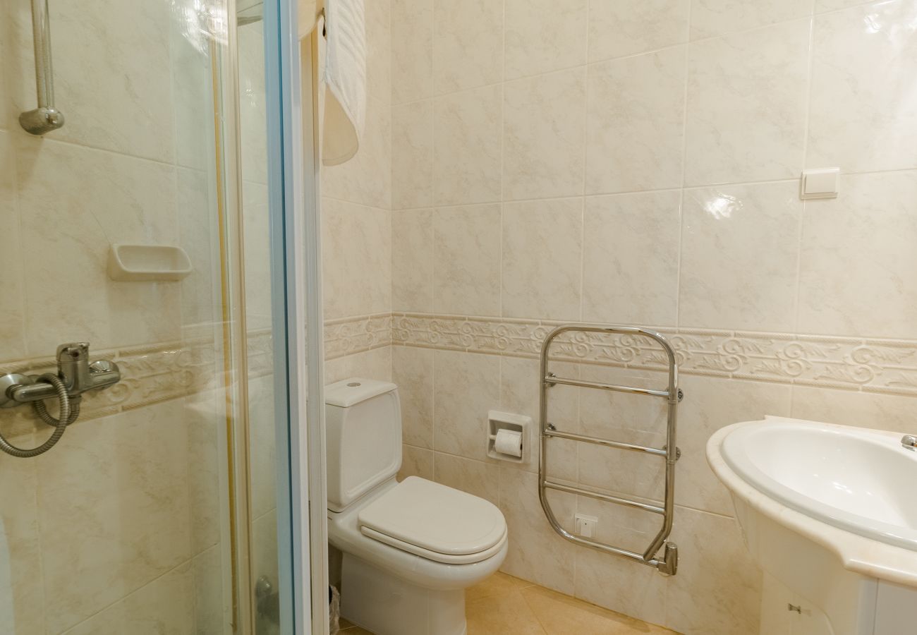
<path fill-rule="evenodd" d="M 551 342 L 554 341 L 555 338 L 557 338 L 559 335 L 569 333 L 571 331 L 602 333 L 608 335 L 636 335 L 648 338 L 650 340 L 655 340 L 656 343 L 662 348 L 662 350 L 665 351 L 666 357 L 668 358 L 668 386 L 665 388 L 665 390 L 651 390 L 648 388 L 635 388 L 625 385 L 588 382 L 579 379 L 567 379 L 564 377 L 558 377 L 554 373 L 548 373 L 547 356 Z M 667 539 L 668 534 L 671 533 L 672 530 L 672 518 L 675 511 L 675 463 L 678 462 L 680 455 L 680 451 L 675 445 L 675 431 L 676 424 L 678 422 L 678 405 L 683 395 L 679 390 L 678 385 L 679 369 L 678 364 L 675 362 L 675 351 L 672 350 L 668 340 L 666 340 L 666 338 L 661 333 L 657 333 L 654 330 L 641 329 L 639 327 L 624 327 L 605 324 L 568 324 L 560 326 L 548 333 L 547 338 L 545 338 L 544 343 L 541 345 L 541 368 L 538 381 L 540 384 L 539 394 L 541 395 L 541 457 L 538 462 L 538 496 L 541 499 L 541 507 L 544 508 L 545 515 L 547 516 L 547 520 L 551 524 L 551 527 L 554 528 L 558 534 L 567 540 L 570 540 L 571 542 L 585 545 L 587 547 L 592 547 L 593 549 L 597 549 L 599 551 L 613 553 L 614 555 L 623 556 L 624 558 L 630 558 L 631 560 L 635 560 L 638 563 L 644 563 L 649 566 L 656 567 L 657 570 L 662 574 L 676 574 L 679 568 L 678 547 L 674 543 L 669 542 Z M 595 388 L 598 390 L 612 390 L 619 393 L 646 395 L 665 399 L 668 404 L 666 445 L 662 448 L 652 448 L 643 445 L 637 445 L 635 443 L 599 439 L 597 437 L 589 437 L 586 435 L 575 434 L 573 432 L 564 432 L 563 430 L 557 429 L 547 420 L 547 395 L 551 386 L 556 384 L 580 386 L 582 388 Z M 551 481 L 547 477 L 547 450 L 549 441 L 554 438 L 582 441 L 585 443 L 595 443 L 607 448 L 614 448 L 617 450 L 644 452 L 648 455 L 656 455 L 665 459 L 666 490 L 664 500 L 662 501 L 661 505 L 659 505 L 651 502 L 642 502 L 633 500 L 631 498 L 624 498 L 621 496 L 602 494 L 601 492 L 595 492 L 589 489 L 584 489 L 582 487 L 564 485 L 562 483 Z M 649 546 L 646 547 L 646 550 L 643 551 L 643 553 L 628 551 L 626 549 L 615 547 L 605 542 L 600 542 L 599 540 L 591 540 L 589 538 L 577 536 L 560 526 L 558 518 L 554 515 L 554 511 L 551 509 L 551 505 L 547 500 L 547 490 L 549 489 L 557 490 L 558 492 L 566 492 L 568 494 L 575 494 L 578 496 L 589 496 L 591 498 L 602 500 L 607 503 L 614 503 L 616 505 L 623 505 L 626 507 L 635 507 L 637 509 L 643 509 L 645 511 L 659 514 L 663 517 L 662 528 L 659 529 L 656 537 L 652 540 L 652 542 L 650 542 Z M 609 489 L 613 490 L 614 488 L 610 487 Z M 663 550 L 662 554 L 657 555 L 660 549 Z"/>

